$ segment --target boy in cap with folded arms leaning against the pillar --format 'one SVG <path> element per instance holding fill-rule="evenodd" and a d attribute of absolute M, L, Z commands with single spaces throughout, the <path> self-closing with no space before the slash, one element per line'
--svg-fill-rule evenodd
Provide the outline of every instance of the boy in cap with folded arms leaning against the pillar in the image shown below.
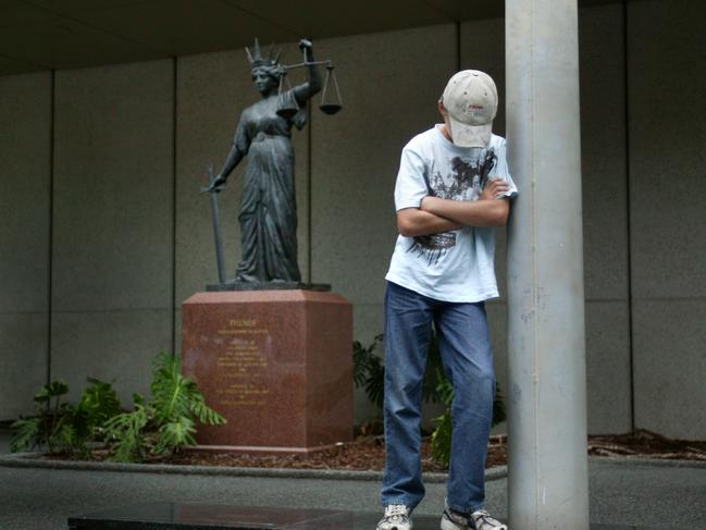
<path fill-rule="evenodd" d="M 453 441 L 442 530 L 508 530 L 485 511 L 484 471 L 495 374 L 484 303 L 498 296 L 494 226 L 517 194 L 505 138 L 492 132 L 495 83 L 454 75 L 443 124 L 404 148 L 395 207 L 399 236 L 385 279 L 385 444 L 377 530 L 410 530 L 422 483 L 422 379 L 432 324 L 454 385 Z"/>

